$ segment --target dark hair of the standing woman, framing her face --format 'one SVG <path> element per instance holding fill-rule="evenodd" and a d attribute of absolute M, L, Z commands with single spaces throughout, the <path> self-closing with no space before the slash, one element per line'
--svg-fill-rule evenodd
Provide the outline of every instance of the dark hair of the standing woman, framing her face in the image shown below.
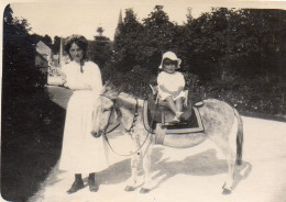
<path fill-rule="evenodd" d="M 72 36 L 68 36 L 66 38 L 64 50 L 68 54 L 70 59 L 73 58 L 69 55 L 69 49 L 74 43 L 84 50 L 82 60 L 87 60 L 87 46 L 88 46 L 87 38 L 82 35 L 76 35 L 76 34 L 73 34 Z"/>

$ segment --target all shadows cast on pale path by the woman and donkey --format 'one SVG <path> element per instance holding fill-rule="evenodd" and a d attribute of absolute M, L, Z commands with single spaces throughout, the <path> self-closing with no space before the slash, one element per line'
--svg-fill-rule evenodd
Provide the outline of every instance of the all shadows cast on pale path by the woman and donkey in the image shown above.
<path fill-rule="evenodd" d="M 157 182 L 151 190 L 158 188 L 161 184 L 179 173 L 208 177 L 228 172 L 227 160 L 218 159 L 216 149 L 208 149 L 197 155 L 186 157 L 179 161 L 168 161 L 168 158 L 162 159 L 163 154 L 164 148 L 154 148 L 151 171 L 152 173 L 156 173 L 153 176 L 153 181 Z M 97 180 L 99 184 L 117 184 L 127 181 L 131 176 L 130 160 L 130 158 L 121 160 L 111 165 L 106 170 L 98 172 Z M 53 187 L 63 180 L 59 179 L 59 176 L 65 171 L 58 170 L 57 165 L 53 168 L 46 181 L 41 186 L 41 190 L 44 190 L 46 187 Z M 243 161 L 241 166 L 235 167 L 233 189 L 238 187 L 240 181 L 249 177 L 251 170 L 252 165 L 246 161 Z M 141 172 L 141 175 L 143 175 L 143 172 Z M 84 181 L 87 186 L 88 178 L 84 178 Z M 142 183 L 139 187 L 141 186 Z M 40 191 L 30 199 L 30 202 L 34 199 L 40 199 L 41 194 L 43 193 Z"/>

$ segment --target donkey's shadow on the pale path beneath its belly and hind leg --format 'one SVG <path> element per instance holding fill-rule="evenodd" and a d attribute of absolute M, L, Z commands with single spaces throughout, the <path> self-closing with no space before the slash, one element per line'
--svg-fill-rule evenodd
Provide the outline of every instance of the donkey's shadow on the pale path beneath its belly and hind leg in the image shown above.
<path fill-rule="evenodd" d="M 158 188 L 162 183 L 183 173 L 188 176 L 215 176 L 228 172 L 228 164 L 224 159 L 217 158 L 216 149 L 208 149 L 194 156 L 186 157 L 179 161 L 168 161 L 168 158 L 163 157 L 164 148 L 154 148 L 152 158 L 152 172 L 157 172 L 153 176 L 153 180 L 157 183 L 152 190 Z M 250 175 L 252 165 L 243 161 L 241 166 L 235 166 L 233 189 L 239 182 Z M 243 172 L 242 172 L 243 171 Z M 223 181 L 222 181 L 223 183 Z"/>

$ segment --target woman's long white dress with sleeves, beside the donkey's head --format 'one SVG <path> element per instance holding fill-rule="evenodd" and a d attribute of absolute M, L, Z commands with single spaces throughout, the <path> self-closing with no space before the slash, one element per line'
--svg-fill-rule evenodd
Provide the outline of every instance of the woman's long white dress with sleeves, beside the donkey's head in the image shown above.
<path fill-rule="evenodd" d="M 82 69 L 80 72 L 75 61 L 62 69 L 65 86 L 74 92 L 66 111 L 59 169 L 73 173 L 98 172 L 108 167 L 105 138 L 90 134 L 92 109 L 102 89 L 100 69 L 92 61 L 86 61 Z"/>

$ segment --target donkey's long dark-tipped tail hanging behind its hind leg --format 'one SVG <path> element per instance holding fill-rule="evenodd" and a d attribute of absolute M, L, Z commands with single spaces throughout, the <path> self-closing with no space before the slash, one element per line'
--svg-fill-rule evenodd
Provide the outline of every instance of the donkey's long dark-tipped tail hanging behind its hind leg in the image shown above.
<path fill-rule="evenodd" d="M 237 165 L 242 164 L 242 149 L 243 149 L 243 123 L 239 112 L 234 110 L 234 114 L 238 119 L 238 133 L 237 133 Z"/>

